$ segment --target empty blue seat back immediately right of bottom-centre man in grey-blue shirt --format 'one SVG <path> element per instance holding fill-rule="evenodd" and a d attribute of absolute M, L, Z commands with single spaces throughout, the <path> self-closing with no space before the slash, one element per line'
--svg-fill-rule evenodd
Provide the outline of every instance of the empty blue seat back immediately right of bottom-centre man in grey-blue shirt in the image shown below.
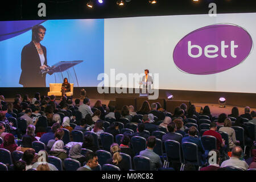
<path fill-rule="evenodd" d="M 180 143 L 175 140 L 166 140 L 164 142 L 167 159 L 170 162 L 182 163 Z"/>

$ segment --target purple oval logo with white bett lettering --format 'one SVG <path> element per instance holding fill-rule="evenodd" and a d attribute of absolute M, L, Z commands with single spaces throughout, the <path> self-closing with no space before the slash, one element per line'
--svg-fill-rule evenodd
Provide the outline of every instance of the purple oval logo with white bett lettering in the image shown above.
<path fill-rule="evenodd" d="M 177 43 L 174 63 L 195 75 L 223 72 L 242 63 L 253 46 L 250 34 L 235 24 L 199 28 Z"/>

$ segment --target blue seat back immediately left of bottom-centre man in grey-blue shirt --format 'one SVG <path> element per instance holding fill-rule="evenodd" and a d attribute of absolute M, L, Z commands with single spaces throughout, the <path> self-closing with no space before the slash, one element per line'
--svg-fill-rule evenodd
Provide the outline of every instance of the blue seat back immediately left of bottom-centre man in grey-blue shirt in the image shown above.
<path fill-rule="evenodd" d="M 133 163 L 136 171 L 151 171 L 151 161 L 147 157 L 141 155 L 134 156 Z"/>

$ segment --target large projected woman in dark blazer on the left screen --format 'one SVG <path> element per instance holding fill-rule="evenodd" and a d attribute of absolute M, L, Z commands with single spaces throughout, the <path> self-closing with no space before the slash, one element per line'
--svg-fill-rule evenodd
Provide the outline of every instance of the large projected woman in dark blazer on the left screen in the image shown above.
<path fill-rule="evenodd" d="M 46 47 L 40 42 L 46 35 L 46 28 L 42 25 L 32 28 L 32 40 L 23 47 L 21 53 L 21 69 L 19 84 L 23 87 L 46 87 L 47 56 Z"/>

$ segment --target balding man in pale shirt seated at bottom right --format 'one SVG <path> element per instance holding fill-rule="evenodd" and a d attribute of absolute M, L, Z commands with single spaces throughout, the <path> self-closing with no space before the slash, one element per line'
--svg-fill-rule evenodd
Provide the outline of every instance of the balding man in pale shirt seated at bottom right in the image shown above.
<path fill-rule="evenodd" d="M 225 160 L 221 163 L 221 168 L 225 166 L 233 166 L 233 167 L 240 167 L 243 170 L 248 169 L 248 164 L 242 159 L 242 148 L 240 146 L 236 146 L 232 149 L 231 158 Z"/>

